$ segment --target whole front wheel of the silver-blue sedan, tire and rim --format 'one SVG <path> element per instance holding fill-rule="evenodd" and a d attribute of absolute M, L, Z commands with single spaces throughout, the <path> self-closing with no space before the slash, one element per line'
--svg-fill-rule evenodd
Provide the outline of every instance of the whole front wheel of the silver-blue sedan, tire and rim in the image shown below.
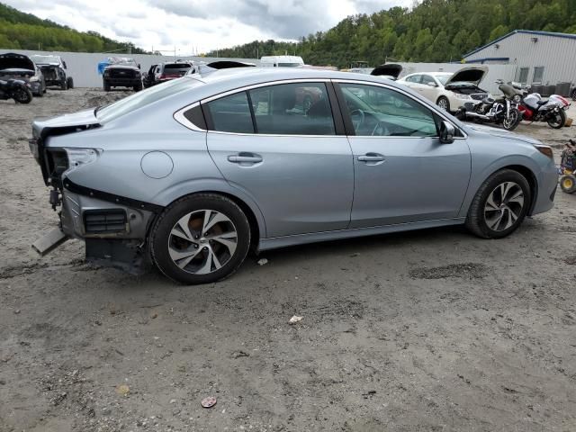
<path fill-rule="evenodd" d="M 526 177 L 518 171 L 502 169 L 488 177 L 476 192 L 466 216 L 466 228 L 481 238 L 506 237 L 518 229 L 531 201 Z"/>

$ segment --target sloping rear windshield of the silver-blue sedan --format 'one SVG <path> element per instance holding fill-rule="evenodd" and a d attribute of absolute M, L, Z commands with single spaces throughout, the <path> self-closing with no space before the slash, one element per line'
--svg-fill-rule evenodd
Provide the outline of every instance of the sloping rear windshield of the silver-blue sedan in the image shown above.
<path fill-rule="evenodd" d="M 150 103 L 155 103 L 160 99 L 171 96 L 172 94 L 184 92 L 202 84 L 202 81 L 188 77 L 167 81 L 164 84 L 150 87 L 148 90 L 132 94 L 118 102 L 111 103 L 101 108 L 96 108 L 94 115 L 101 123 L 116 120 L 122 115 L 136 111 Z"/>

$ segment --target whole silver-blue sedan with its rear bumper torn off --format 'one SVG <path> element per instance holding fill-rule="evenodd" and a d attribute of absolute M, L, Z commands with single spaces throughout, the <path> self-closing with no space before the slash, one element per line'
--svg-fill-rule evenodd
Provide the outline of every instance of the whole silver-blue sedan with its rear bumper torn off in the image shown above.
<path fill-rule="evenodd" d="M 401 103 L 397 103 L 400 100 Z M 246 67 L 34 121 L 56 231 L 89 261 L 220 280 L 250 248 L 465 224 L 502 238 L 554 205 L 552 149 L 464 125 L 374 76 Z"/>

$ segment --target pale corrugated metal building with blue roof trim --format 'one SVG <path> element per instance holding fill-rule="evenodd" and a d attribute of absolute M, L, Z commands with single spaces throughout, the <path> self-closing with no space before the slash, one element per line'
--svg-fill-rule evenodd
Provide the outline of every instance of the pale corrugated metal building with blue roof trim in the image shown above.
<path fill-rule="evenodd" d="M 474 49 L 464 61 L 516 65 L 515 81 L 557 85 L 576 81 L 575 58 L 576 34 L 516 30 Z"/>

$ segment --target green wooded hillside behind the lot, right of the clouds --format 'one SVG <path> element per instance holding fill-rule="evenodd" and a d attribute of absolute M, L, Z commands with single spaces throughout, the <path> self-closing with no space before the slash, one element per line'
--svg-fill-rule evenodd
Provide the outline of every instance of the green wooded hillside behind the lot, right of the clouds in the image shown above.
<path fill-rule="evenodd" d="M 311 65 L 349 67 L 364 60 L 460 61 L 514 30 L 576 33 L 576 0 L 423 0 L 410 8 L 348 16 L 297 42 L 254 40 L 206 55 L 256 58 L 298 55 Z"/>

